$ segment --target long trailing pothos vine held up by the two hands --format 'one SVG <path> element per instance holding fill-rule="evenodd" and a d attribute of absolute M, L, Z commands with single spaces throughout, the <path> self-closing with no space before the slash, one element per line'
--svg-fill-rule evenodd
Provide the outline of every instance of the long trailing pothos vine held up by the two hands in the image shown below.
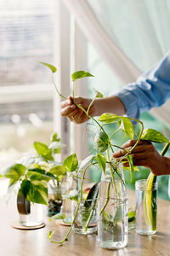
<path fill-rule="evenodd" d="M 59 90 L 54 82 L 54 73 L 57 72 L 57 68 L 48 63 L 44 63 L 44 62 L 41 62 L 41 63 L 43 65 L 47 66 L 51 70 L 52 80 L 54 83 L 55 90 L 61 98 L 66 100 L 66 97 L 62 96 L 59 93 Z M 99 166 L 101 168 L 102 172 L 104 173 L 104 175 L 105 175 L 105 171 L 106 171 L 106 166 L 109 166 L 110 173 L 111 173 L 111 180 L 108 183 L 108 187 L 107 187 L 107 195 L 109 196 L 111 183 L 113 183 L 113 184 L 115 183 L 115 177 L 119 177 L 122 180 L 122 173 L 119 169 L 119 165 L 125 159 L 128 160 L 131 177 L 133 177 L 133 172 L 136 170 L 136 166 L 133 165 L 132 152 L 133 152 L 133 149 L 138 145 L 140 140 L 147 140 L 147 141 L 154 142 L 154 143 L 167 143 L 165 148 L 161 152 L 161 154 L 165 154 L 167 152 L 167 149 L 169 148 L 169 144 L 170 144 L 169 140 L 166 137 L 164 137 L 164 135 L 161 134 L 161 132 L 153 130 L 153 129 L 144 129 L 143 122 L 140 121 L 139 119 L 118 116 L 114 113 L 103 113 L 98 119 L 95 119 L 94 117 L 90 116 L 89 110 L 92 107 L 94 100 L 96 98 L 103 97 L 103 95 L 98 90 L 95 90 L 95 96 L 92 99 L 92 101 L 90 102 L 87 110 L 82 108 L 81 105 L 77 104 L 74 101 L 74 87 L 75 87 L 74 84 L 77 79 L 82 79 L 85 77 L 93 77 L 93 75 L 91 73 L 88 73 L 85 71 L 77 71 L 75 73 L 72 73 L 72 75 L 71 75 L 71 79 L 72 79 L 72 83 L 73 83 L 72 97 L 73 97 L 74 104 L 78 108 L 81 108 L 83 110 L 83 112 L 87 114 L 88 118 L 92 119 L 94 121 L 94 124 L 99 129 L 99 131 L 97 132 L 97 134 L 94 137 L 94 148 L 96 149 L 96 154 L 90 154 L 88 156 L 88 158 L 86 158 L 85 160 L 82 161 L 82 164 L 79 167 L 78 167 L 78 160 L 77 160 L 76 154 L 72 154 L 65 160 L 65 167 L 69 166 L 68 171 L 74 172 L 74 176 L 77 178 L 79 178 L 79 172 L 82 172 L 82 178 L 81 178 L 81 189 L 79 191 L 78 198 L 77 198 L 77 211 L 75 212 L 75 216 L 71 222 L 71 227 L 68 230 L 67 234 L 65 235 L 64 239 L 62 241 L 53 241 L 52 236 L 54 235 L 54 231 L 50 231 L 48 233 L 48 239 L 50 241 L 58 243 L 58 244 L 62 244 L 67 239 L 69 234 L 71 233 L 71 229 L 72 229 L 73 224 L 75 223 L 75 220 L 77 218 L 77 212 L 78 212 L 78 209 L 79 209 L 81 201 L 82 201 L 83 183 L 84 183 L 85 174 L 90 166 Z M 140 131 L 138 134 L 136 134 L 133 130 L 133 122 L 139 123 L 139 125 L 140 125 Z M 106 132 L 105 126 L 110 125 L 112 123 L 117 125 L 117 129 L 115 131 L 112 131 L 111 135 L 109 136 Z M 119 145 L 116 145 L 114 143 L 114 136 L 115 136 L 116 132 L 119 130 L 122 130 L 124 135 L 127 138 L 136 139 L 136 143 L 128 151 L 125 150 L 124 148 L 122 148 L 123 150 L 126 151 L 126 154 L 124 156 L 122 156 L 122 158 L 120 158 L 119 160 L 116 161 L 112 158 L 112 154 L 114 153 L 114 148 L 121 148 Z M 122 180 L 122 182 L 124 183 L 123 180 Z M 150 176 L 148 177 L 148 181 L 147 181 L 148 188 L 150 188 L 154 182 L 156 182 L 156 176 L 154 176 L 153 174 L 150 173 Z M 115 189 L 116 189 L 116 186 L 115 186 Z M 91 193 L 92 195 L 94 195 L 94 197 L 93 197 L 94 201 L 96 201 L 98 192 L 99 192 L 99 185 L 95 184 L 95 186 L 93 188 L 93 193 Z M 150 225 L 151 225 L 152 229 L 155 229 L 155 225 L 156 225 L 156 213 L 155 212 L 156 211 L 152 207 L 151 196 L 152 196 L 151 194 L 145 196 L 145 209 L 146 209 L 145 213 L 147 215 L 147 219 L 150 221 Z M 105 211 L 105 207 L 107 206 L 108 201 L 109 201 L 109 198 L 106 199 L 105 205 L 104 205 L 104 207 L 102 207 L 99 214 L 102 214 L 102 212 Z M 86 205 L 86 201 L 84 202 L 84 205 Z M 95 207 L 95 204 L 94 204 L 94 207 Z M 87 228 L 88 228 L 88 224 L 89 224 L 90 219 L 92 218 L 92 215 L 94 212 L 94 207 L 91 208 L 91 212 L 89 212 L 89 214 L 87 216 L 87 221 L 83 227 L 84 230 L 87 230 Z M 130 218 L 131 217 L 132 216 L 130 216 Z M 63 221 L 65 221 L 65 214 L 59 213 L 58 215 L 54 216 L 54 218 L 55 219 L 61 218 L 61 219 L 63 219 Z"/>

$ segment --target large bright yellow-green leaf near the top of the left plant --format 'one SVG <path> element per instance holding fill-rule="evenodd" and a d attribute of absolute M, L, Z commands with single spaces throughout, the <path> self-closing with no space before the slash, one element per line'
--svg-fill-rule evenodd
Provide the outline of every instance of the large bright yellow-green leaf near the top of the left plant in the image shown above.
<path fill-rule="evenodd" d="M 54 160 L 52 149 L 48 148 L 46 144 L 34 142 L 34 148 L 36 149 L 37 154 L 40 154 L 46 160 Z"/>

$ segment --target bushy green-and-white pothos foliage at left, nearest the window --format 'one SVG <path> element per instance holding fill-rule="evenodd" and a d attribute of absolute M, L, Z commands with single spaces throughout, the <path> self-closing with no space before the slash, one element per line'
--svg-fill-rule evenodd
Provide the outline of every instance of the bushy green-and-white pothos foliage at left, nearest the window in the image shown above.
<path fill-rule="evenodd" d="M 35 153 L 23 154 L 3 172 L 3 176 L 9 178 L 8 196 L 17 188 L 27 201 L 48 205 L 48 186 L 59 187 L 67 173 L 65 166 L 54 160 L 63 146 L 56 132 L 49 144 L 34 142 Z"/>

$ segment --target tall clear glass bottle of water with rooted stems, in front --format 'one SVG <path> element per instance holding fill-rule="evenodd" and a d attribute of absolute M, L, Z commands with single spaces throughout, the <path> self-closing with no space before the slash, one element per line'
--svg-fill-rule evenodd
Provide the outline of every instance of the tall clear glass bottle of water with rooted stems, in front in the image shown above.
<path fill-rule="evenodd" d="M 120 178 L 101 181 L 98 203 L 98 241 L 109 249 L 126 247 L 128 236 L 127 190 Z"/>

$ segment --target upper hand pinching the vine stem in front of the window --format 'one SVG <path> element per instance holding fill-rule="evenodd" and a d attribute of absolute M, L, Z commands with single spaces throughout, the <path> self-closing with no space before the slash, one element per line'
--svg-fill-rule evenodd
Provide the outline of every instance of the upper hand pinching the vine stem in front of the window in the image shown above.
<path fill-rule="evenodd" d="M 88 106 L 92 100 L 83 97 L 76 97 L 74 101 L 85 110 L 88 110 Z M 89 114 L 94 114 L 94 104 L 92 104 Z M 73 103 L 73 98 L 71 96 L 69 96 L 64 102 L 61 102 L 61 115 L 67 117 L 76 124 L 82 124 L 89 119 L 87 114 Z"/>

